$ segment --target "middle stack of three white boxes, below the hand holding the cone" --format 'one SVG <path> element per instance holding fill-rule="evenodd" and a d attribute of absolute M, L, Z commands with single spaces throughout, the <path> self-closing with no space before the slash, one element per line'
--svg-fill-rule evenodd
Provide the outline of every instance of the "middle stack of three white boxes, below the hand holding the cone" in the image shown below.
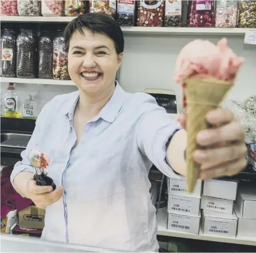
<path fill-rule="evenodd" d="M 233 211 L 238 181 L 204 181 L 201 224 L 204 234 L 236 236 L 238 218 Z"/>

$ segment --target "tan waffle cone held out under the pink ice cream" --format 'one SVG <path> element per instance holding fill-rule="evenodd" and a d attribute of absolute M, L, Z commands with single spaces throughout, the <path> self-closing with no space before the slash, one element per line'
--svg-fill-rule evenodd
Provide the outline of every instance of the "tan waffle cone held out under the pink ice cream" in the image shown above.
<path fill-rule="evenodd" d="M 187 192 L 193 192 L 200 175 L 200 164 L 193 160 L 193 153 L 198 147 L 196 136 L 200 131 L 210 128 L 205 115 L 217 108 L 232 87 L 232 82 L 215 78 L 188 78 L 185 80 L 185 96 L 187 101 Z"/>

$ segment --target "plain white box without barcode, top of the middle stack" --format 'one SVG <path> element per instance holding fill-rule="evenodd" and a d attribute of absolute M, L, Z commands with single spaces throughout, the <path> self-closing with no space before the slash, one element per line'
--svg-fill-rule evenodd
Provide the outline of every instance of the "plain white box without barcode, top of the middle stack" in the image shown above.
<path fill-rule="evenodd" d="M 203 196 L 235 200 L 237 188 L 238 181 L 235 180 L 206 180 L 204 181 Z"/>

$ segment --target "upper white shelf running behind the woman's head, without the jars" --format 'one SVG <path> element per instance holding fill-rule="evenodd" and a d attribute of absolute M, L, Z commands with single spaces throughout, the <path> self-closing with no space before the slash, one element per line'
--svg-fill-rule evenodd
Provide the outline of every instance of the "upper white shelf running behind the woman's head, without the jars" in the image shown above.
<path fill-rule="evenodd" d="M 75 17 L 20 17 L 3 16 L 1 22 L 59 22 L 68 23 Z M 223 36 L 243 36 L 247 28 L 194 28 L 194 27 L 121 27 L 125 34 L 156 34 L 156 35 L 223 35 Z"/>

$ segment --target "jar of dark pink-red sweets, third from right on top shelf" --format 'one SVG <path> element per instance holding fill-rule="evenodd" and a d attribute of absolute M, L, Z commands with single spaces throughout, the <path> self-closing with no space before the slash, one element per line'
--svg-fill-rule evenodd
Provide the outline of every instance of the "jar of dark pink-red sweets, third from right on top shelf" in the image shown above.
<path fill-rule="evenodd" d="M 214 26 L 214 1 L 189 1 L 188 27 Z"/>

